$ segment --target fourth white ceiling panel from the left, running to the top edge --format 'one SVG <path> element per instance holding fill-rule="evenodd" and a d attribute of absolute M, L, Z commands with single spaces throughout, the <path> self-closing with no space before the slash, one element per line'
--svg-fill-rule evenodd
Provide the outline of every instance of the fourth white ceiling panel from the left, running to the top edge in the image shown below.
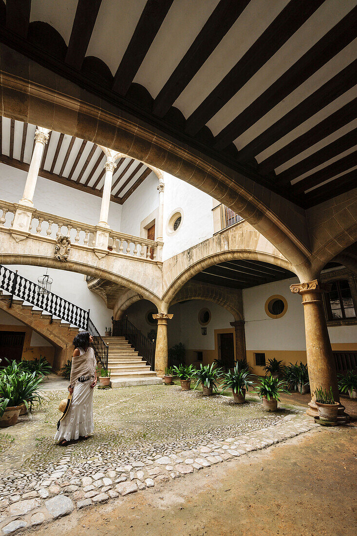
<path fill-rule="evenodd" d="M 198 70 L 174 106 L 187 118 L 220 83 L 289 0 L 250 2 L 209 58 Z"/>

